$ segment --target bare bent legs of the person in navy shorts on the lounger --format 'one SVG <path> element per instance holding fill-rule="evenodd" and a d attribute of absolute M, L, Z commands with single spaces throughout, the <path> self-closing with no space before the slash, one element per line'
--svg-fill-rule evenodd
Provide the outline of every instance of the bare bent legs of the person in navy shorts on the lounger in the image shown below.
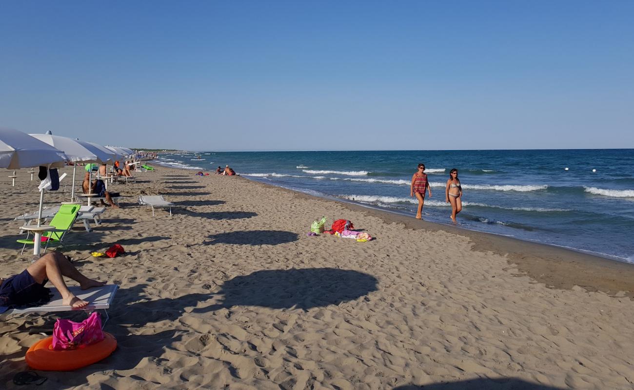
<path fill-rule="evenodd" d="M 68 306 L 72 306 L 74 309 L 83 308 L 88 304 L 86 301 L 75 297 L 64 282 L 62 276 L 67 276 L 75 282 L 78 282 L 82 290 L 89 289 L 91 287 L 103 286 L 106 282 L 98 282 L 97 280 L 89 279 L 77 271 L 70 261 L 63 256 L 60 252 L 51 252 L 42 256 L 35 263 L 31 264 L 27 268 L 27 272 L 33 276 L 37 283 L 44 282 L 45 279 L 50 280 L 51 283 L 61 294 L 61 302 Z"/>

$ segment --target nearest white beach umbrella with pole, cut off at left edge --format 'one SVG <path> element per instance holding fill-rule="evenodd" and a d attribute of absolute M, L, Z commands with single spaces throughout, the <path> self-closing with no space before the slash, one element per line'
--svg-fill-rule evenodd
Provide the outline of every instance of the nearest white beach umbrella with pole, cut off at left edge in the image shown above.
<path fill-rule="evenodd" d="M 35 166 L 63 166 L 66 156 L 60 150 L 29 134 L 14 129 L 0 128 L 0 167 L 7 169 Z M 42 204 L 44 188 L 40 190 L 40 204 L 37 212 L 37 228 L 42 226 Z M 33 254 L 39 255 L 42 231 L 34 231 Z"/>

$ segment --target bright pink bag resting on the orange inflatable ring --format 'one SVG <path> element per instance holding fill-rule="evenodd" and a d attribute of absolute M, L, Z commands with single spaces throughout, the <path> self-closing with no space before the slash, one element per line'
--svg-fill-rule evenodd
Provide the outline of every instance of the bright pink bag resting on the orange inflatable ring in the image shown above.
<path fill-rule="evenodd" d="M 101 316 L 96 311 L 83 322 L 58 319 L 53 327 L 55 351 L 82 348 L 101 340 L 103 340 Z"/>

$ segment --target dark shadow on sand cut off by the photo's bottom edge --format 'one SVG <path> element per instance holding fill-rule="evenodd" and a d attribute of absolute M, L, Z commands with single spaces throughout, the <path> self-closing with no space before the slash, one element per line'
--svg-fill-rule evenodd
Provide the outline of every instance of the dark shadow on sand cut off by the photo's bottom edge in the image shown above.
<path fill-rule="evenodd" d="M 478 378 L 458 382 L 432 383 L 425 386 L 405 385 L 392 390 L 563 390 L 516 378 Z"/>

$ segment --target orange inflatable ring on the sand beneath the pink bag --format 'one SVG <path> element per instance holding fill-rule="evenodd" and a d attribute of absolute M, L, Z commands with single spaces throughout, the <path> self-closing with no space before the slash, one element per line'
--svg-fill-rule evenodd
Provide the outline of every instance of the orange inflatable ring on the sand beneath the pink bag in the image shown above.
<path fill-rule="evenodd" d="M 70 351 L 53 351 L 53 336 L 33 344 L 27 351 L 27 364 L 34 370 L 72 371 L 110 356 L 117 348 L 112 334 L 103 332 L 104 339 L 96 344 Z"/>

